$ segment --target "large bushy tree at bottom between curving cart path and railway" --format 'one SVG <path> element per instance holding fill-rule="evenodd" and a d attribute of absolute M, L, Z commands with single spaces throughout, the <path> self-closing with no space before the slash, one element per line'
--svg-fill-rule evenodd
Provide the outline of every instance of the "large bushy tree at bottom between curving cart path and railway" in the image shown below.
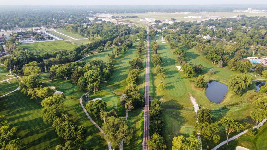
<path fill-rule="evenodd" d="M 102 129 L 112 143 L 113 148 L 119 147 L 123 138 L 125 144 L 128 145 L 133 136 L 133 128 L 127 125 L 124 117 L 109 117 L 109 119 L 103 123 Z"/>

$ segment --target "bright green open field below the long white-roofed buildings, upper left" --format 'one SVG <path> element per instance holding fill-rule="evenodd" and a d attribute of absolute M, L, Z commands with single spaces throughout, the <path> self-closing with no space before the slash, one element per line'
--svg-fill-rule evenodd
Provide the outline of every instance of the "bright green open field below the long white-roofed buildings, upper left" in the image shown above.
<path fill-rule="evenodd" d="M 32 51 L 37 54 L 52 53 L 59 50 L 72 50 L 76 45 L 67 41 L 37 42 L 29 44 L 20 44 L 19 48 Z"/>

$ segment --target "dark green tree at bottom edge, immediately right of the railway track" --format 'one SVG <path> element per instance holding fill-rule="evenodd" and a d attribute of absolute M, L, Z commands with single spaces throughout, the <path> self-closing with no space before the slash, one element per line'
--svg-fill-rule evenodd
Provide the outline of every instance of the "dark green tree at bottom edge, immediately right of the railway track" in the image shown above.
<path fill-rule="evenodd" d="M 158 133 L 154 133 L 150 139 L 147 140 L 147 147 L 151 150 L 165 150 L 167 145 L 164 144 L 164 139 Z"/>

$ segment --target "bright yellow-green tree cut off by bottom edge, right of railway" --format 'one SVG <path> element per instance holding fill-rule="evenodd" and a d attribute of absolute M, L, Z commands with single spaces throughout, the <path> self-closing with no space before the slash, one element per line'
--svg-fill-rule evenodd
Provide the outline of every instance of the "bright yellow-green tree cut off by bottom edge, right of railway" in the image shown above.
<path fill-rule="evenodd" d="M 187 138 L 185 138 L 183 135 L 174 137 L 171 143 L 172 143 L 171 147 L 172 150 L 184 150 L 184 149 L 191 150 L 191 149 L 201 148 L 200 142 L 193 135 Z"/>

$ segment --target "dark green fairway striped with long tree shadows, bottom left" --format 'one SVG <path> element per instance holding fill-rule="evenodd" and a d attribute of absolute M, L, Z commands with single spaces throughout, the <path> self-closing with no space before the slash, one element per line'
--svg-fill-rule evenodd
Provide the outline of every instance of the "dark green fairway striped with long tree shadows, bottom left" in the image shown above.
<path fill-rule="evenodd" d="M 58 138 L 51 124 L 44 124 L 41 101 L 16 91 L 0 101 L 0 115 L 5 115 L 11 126 L 19 128 L 19 137 L 25 149 L 55 149 L 64 140 Z"/>

